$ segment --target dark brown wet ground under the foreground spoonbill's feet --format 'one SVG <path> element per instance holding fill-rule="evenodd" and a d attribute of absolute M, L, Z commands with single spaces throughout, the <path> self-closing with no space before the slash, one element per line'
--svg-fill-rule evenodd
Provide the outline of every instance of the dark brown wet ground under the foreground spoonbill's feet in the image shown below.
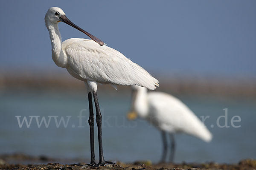
<path fill-rule="evenodd" d="M 136 161 L 134 163 L 116 162 L 114 165 L 107 164 L 103 167 L 89 167 L 86 163 L 60 164 L 47 162 L 75 161 L 70 159 L 51 159 L 45 156 L 25 156 L 20 154 L 0 156 L 0 169 L 17 170 L 255 170 L 256 160 L 245 159 L 237 164 L 218 163 L 160 163 L 152 164 L 151 161 Z M 76 160 L 79 161 L 79 160 Z M 23 163 L 24 162 L 24 163 Z M 30 162 L 30 163 L 28 163 Z M 33 162 L 33 163 L 32 163 Z"/>

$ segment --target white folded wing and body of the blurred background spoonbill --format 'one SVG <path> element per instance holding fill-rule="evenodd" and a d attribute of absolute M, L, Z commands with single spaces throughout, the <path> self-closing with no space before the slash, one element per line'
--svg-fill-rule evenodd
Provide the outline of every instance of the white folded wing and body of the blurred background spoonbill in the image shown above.
<path fill-rule="evenodd" d="M 150 92 L 148 105 L 160 129 L 187 133 L 206 142 L 212 139 L 204 123 L 176 97 L 162 92 Z"/>

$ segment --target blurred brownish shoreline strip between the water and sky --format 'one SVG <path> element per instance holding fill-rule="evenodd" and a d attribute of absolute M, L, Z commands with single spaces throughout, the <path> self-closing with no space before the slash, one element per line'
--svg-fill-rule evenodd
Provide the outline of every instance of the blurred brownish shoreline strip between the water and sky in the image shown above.
<path fill-rule="evenodd" d="M 24 71 L 25 70 L 25 71 Z M 202 76 L 153 74 L 160 81 L 155 91 L 163 91 L 172 95 L 197 95 L 225 98 L 255 98 L 256 79 L 248 76 Z M 118 92 L 129 93 L 130 88 L 117 86 Z M 26 69 L 0 72 L 0 91 L 86 91 L 83 82 L 62 71 L 29 71 Z M 100 85 L 99 91 L 113 91 L 111 85 Z"/>

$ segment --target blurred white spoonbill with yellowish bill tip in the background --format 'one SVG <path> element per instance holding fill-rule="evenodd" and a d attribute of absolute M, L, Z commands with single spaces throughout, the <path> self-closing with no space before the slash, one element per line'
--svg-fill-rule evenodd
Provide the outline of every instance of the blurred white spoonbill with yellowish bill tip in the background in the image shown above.
<path fill-rule="evenodd" d="M 131 120 L 139 116 L 161 131 L 163 138 L 161 162 L 165 162 L 167 154 L 166 133 L 169 133 L 171 138 L 171 162 L 175 152 L 174 133 L 186 133 L 205 142 L 212 140 L 212 134 L 204 123 L 176 97 L 163 92 L 148 93 L 146 88 L 139 86 L 133 86 L 132 89 L 131 112 L 127 114 L 127 117 Z"/>

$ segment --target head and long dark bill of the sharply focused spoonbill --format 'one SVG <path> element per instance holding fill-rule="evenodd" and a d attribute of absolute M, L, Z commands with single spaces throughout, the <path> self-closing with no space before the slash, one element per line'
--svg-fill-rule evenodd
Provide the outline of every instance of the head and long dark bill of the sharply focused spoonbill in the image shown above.
<path fill-rule="evenodd" d="M 84 31 L 82 28 L 80 28 L 76 24 L 72 23 L 66 17 L 66 14 L 64 13 L 64 11 L 62 11 L 61 8 L 58 8 L 58 7 L 49 8 L 47 13 L 45 14 L 44 20 L 45 20 L 45 24 L 46 24 L 47 28 L 49 27 L 49 25 L 58 24 L 59 22 L 63 22 L 63 23 L 66 23 L 66 24 L 76 28 L 77 30 L 81 31 L 82 33 L 86 34 L 88 37 L 90 37 L 93 41 L 97 42 L 99 45 L 102 46 L 104 44 L 104 42 L 102 40 L 99 40 L 99 38 L 94 37 L 92 34 L 88 33 L 87 31 Z"/>

